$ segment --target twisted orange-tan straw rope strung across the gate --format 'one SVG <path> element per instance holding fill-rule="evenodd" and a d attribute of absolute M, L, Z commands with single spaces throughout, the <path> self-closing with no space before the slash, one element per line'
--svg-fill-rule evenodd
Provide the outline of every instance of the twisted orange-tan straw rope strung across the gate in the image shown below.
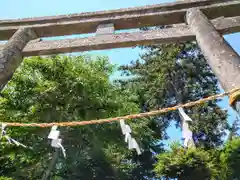
<path fill-rule="evenodd" d="M 180 107 L 191 107 L 191 106 L 194 106 L 197 104 L 203 104 L 206 101 L 211 101 L 211 100 L 214 100 L 217 98 L 228 96 L 237 91 L 240 91 L 240 88 L 232 89 L 228 92 L 216 94 L 216 95 L 213 95 L 213 96 L 210 96 L 207 98 L 203 98 L 203 99 L 200 99 L 197 101 L 188 102 L 186 104 L 180 104 L 177 106 L 163 108 L 163 109 L 154 110 L 154 111 L 145 112 L 145 113 L 130 114 L 130 115 L 126 115 L 126 116 L 119 116 L 119 117 L 107 118 L 107 119 L 98 119 L 98 120 L 90 120 L 90 121 L 52 122 L 52 123 L 16 123 L 16 122 L 2 122 L 2 123 L 6 124 L 7 126 L 41 127 L 41 128 L 52 127 L 54 125 L 56 125 L 56 126 L 84 126 L 84 125 L 89 125 L 89 124 L 110 123 L 113 121 L 119 121 L 121 119 L 127 120 L 127 119 L 133 119 L 133 118 L 142 118 L 142 117 L 146 117 L 146 116 L 153 116 L 153 115 L 157 115 L 157 114 L 161 114 L 161 113 L 166 113 L 169 111 L 174 111 Z"/>

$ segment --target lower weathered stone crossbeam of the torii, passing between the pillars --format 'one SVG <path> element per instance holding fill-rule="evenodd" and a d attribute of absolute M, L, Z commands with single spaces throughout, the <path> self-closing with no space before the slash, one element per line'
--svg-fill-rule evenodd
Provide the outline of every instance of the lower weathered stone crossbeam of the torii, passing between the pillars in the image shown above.
<path fill-rule="evenodd" d="M 240 31 L 240 16 L 234 18 L 218 18 L 212 20 L 221 34 Z M 88 38 L 29 42 L 23 49 L 24 56 L 49 55 L 98 49 L 131 47 L 144 44 L 174 43 L 195 40 L 194 33 L 185 24 L 173 28 L 155 31 L 98 35 Z M 0 45 L 0 49 L 3 45 Z"/>

